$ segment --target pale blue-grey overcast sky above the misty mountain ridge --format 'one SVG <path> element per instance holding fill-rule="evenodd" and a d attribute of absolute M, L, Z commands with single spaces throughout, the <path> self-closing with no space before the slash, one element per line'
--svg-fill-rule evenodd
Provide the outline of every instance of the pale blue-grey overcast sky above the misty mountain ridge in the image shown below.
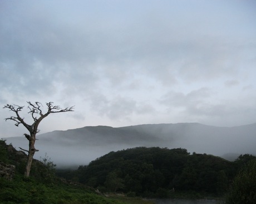
<path fill-rule="evenodd" d="M 254 0 L 2 0 L 0 104 L 75 105 L 41 133 L 256 123 L 255 19 Z M 2 107 L 0 137 L 21 136 Z"/>

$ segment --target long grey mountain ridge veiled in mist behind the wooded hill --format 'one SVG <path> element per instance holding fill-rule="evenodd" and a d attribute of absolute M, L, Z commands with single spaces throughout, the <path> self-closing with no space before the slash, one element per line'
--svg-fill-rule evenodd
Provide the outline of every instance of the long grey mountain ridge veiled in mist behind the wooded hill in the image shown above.
<path fill-rule="evenodd" d="M 45 152 L 58 166 L 85 165 L 110 151 L 137 146 L 185 148 L 189 152 L 226 155 L 256 155 L 256 124 L 216 127 L 198 123 L 148 124 L 127 127 L 86 126 L 37 136 L 35 158 Z M 25 137 L 8 137 L 16 149 L 26 149 Z M 234 158 L 234 157 L 233 157 Z"/>

